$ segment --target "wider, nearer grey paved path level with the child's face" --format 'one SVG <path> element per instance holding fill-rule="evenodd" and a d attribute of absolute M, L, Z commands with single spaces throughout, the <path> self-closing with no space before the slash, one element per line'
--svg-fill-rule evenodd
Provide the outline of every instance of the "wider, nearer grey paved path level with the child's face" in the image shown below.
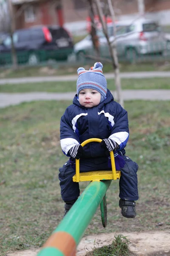
<path fill-rule="evenodd" d="M 114 99 L 117 93 L 112 91 Z M 73 100 L 76 92 L 70 93 L 0 93 L 0 108 L 36 100 Z M 170 90 L 123 90 L 124 100 L 170 100 Z"/>

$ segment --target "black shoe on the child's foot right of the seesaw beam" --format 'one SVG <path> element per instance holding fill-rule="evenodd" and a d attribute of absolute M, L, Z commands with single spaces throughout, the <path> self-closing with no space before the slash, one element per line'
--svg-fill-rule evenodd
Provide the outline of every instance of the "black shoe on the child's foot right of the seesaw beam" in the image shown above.
<path fill-rule="evenodd" d="M 122 215 L 125 218 L 135 218 L 136 217 L 136 203 L 135 201 L 126 201 L 123 199 L 119 200 L 119 207 L 122 209 Z"/>

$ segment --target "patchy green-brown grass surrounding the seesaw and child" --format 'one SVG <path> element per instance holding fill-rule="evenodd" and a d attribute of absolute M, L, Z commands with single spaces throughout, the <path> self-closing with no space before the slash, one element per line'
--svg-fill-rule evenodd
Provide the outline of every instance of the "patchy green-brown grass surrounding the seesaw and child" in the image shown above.
<path fill-rule="evenodd" d="M 58 169 L 67 157 L 59 122 L 67 101 L 0 109 L 0 255 L 40 247 L 62 219 Z M 127 155 L 139 165 L 137 217 L 120 214 L 119 181 L 107 192 L 108 227 L 97 210 L 85 235 L 170 229 L 170 101 L 125 102 L 130 125 Z M 81 191 L 88 183 L 80 183 Z"/>

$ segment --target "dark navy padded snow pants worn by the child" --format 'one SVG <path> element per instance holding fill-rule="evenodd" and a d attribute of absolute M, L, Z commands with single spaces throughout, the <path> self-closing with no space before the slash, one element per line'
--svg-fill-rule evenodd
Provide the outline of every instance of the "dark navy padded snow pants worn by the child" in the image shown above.
<path fill-rule="evenodd" d="M 123 200 L 138 200 L 138 180 L 137 180 L 137 163 L 133 162 L 129 157 L 123 155 L 125 165 L 121 171 L 119 180 L 119 197 Z M 90 172 L 94 170 L 108 170 L 108 163 L 94 163 L 84 160 L 80 162 L 80 172 Z M 88 171 L 87 171 L 88 170 Z M 61 196 L 63 201 L 71 201 L 79 197 L 79 183 L 73 182 L 75 170 L 71 167 L 69 160 L 59 168 L 59 180 L 61 187 Z"/>

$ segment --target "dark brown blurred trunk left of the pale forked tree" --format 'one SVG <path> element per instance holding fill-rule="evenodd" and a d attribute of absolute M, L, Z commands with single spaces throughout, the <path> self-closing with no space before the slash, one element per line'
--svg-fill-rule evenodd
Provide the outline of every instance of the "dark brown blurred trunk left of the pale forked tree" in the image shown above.
<path fill-rule="evenodd" d="M 93 43 L 93 47 L 94 47 L 94 51 L 95 51 L 95 55 L 97 58 L 100 57 L 100 52 L 99 52 L 99 38 L 96 34 L 96 24 L 94 21 L 94 8 L 93 8 L 93 0 L 88 0 L 89 5 L 90 5 L 90 12 L 89 12 L 89 16 L 91 18 L 91 39 L 92 39 L 92 43 Z"/>

